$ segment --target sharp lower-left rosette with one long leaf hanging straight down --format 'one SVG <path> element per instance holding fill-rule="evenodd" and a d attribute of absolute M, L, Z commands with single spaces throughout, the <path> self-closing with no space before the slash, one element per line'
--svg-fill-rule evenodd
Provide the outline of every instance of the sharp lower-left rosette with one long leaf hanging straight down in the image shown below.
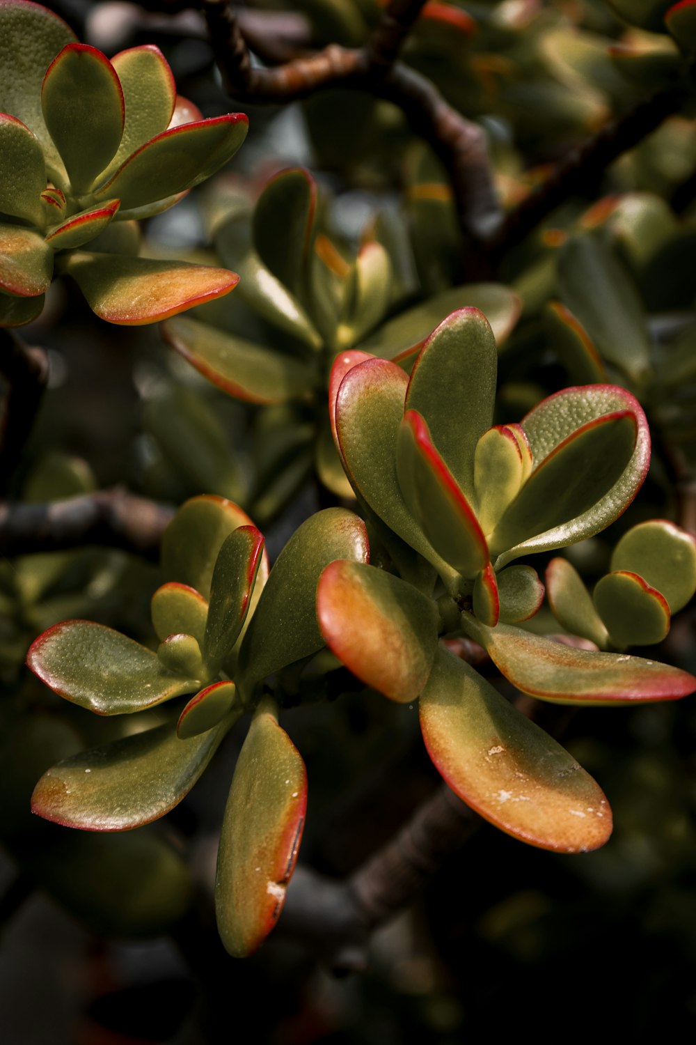
<path fill-rule="evenodd" d="M 32 809 L 88 831 L 149 823 L 193 787 L 225 735 L 251 715 L 224 814 L 216 880 L 227 950 L 254 950 L 283 907 L 305 819 L 303 760 L 278 722 L 268 676 L 294 678 L 325 646 L 316 585 L 335 559 L 365 562 L 361 519 L 340 508 L 309 518 L 268 571 L 264 540 L 230 501 L 188 501 L 162 545 L 166 582 L 152 598 L 157 652 L 89 621 L 32 644 L 27 664 L 66 699 L 98 715 L 176 700 L 162 724 L 65 759 L 37 784 Z M 177 698 L 184 697 L 184 700 Z"/>

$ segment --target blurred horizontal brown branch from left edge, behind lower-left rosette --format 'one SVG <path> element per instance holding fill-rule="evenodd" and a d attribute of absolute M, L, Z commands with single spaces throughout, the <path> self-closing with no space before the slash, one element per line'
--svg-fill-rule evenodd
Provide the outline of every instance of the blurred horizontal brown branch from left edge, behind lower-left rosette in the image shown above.
<path fill-rule="evenodd" d="M 116 488 L 50 504 L 0 505 L 0 555 L 104 544 L 157 559 L 173 508 Z"/>

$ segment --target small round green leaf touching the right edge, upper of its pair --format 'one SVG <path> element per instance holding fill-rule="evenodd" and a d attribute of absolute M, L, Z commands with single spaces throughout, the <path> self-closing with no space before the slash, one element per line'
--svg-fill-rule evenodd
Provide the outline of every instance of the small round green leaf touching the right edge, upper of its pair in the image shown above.
<path fill-rule="evenodd" d="M 676 613 L 696 591 L 696 539 L 668 519 L 639 522 L 615 548 L 611 570 L 640 574 Z"/>

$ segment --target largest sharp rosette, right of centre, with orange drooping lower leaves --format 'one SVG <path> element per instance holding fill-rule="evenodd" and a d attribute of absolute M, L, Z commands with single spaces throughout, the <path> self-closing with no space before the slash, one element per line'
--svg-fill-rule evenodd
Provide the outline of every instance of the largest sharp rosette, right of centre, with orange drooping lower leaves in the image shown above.
<path fill-rule="evenodd" d="M 426 746 L 461 798 L 532 844 L 586 850 L 610 830 L 601 792 L 441 637 L 474 640 L 515 687 L 561 703 L 673 699 L 696 678 L 520 627 L 544 588 L 531 566 L 510 563 L 614 521 L 643 483 L 650 443 L 637 400 L 606 385 L 566 389 L 521 424 L 491 426 L 496 361 L 476 309 L 436 328 L 410 378 L 366 353 L 337 358 L 337 447 L 386 554 L 382 568 L 331 563 L 317 613 L 365 683 L 419 698 Z"/>

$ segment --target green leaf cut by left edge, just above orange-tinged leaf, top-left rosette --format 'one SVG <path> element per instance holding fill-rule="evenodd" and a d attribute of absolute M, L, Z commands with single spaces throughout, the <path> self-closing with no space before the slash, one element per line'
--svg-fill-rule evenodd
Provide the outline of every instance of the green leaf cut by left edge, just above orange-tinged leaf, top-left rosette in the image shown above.
<path fill-rule="evenodd" d="M 0 113 L 0 211 L 41 225 L 45 188 L 46 164 L 39 139 L 21 120 Z"/>

